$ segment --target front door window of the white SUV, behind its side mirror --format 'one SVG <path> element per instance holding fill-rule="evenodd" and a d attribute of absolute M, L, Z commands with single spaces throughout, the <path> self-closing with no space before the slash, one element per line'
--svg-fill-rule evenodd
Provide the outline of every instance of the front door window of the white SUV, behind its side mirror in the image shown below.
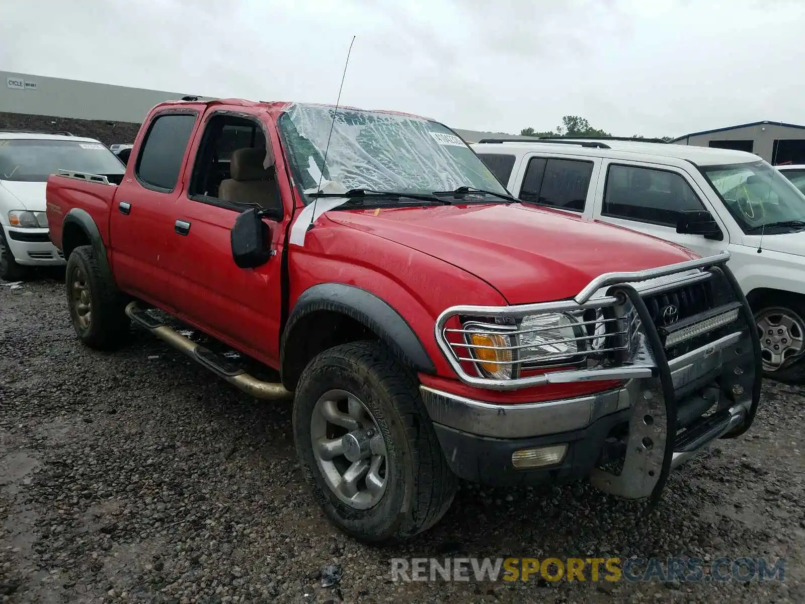
<path fill-rule="evenodd" d="M 654 225 L 676 226 L 679 212 L 704 209 L 687 180 L 676 172 L 611 164 L 601 214 Z"/>

